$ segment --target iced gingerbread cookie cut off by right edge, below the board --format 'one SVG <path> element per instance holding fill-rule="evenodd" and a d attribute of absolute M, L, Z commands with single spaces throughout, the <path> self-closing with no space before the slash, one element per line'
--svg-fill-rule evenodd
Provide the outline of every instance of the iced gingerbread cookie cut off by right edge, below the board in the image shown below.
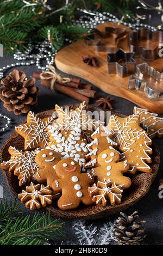
<path fill-rule="evenodd" d="M 133 113 L 140 115 L 140 125 L 147 131 L 150 138 L 163 137 L 163 118 L 139 107 L 134 107 Z"/>

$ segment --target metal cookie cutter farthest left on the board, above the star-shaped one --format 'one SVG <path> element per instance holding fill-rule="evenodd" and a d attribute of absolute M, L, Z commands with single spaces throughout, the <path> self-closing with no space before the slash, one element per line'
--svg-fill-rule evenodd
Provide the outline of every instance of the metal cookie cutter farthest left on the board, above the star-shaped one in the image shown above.
<path fill-rule="evenodd" d="M 87 46 L 95 45 L 96 52 L 116 52 L 118 50 L 118 43 L 120 42 L 120 40 L 127 36 L 126 28 L 105 27 L 104 32 L 101 32 L 99 31 L 99 29 L 96 28 L 95 32 L 101 38 L 107 38 L 108 36 L 112 35 L 115 44 L 115 46 L 107 46 L 105 42 L 102 42 L 101 38 L 95 39 L 95 36 L 93 35 L 92 39 L 90 38 L 85 40 L 85 44 Z"/>

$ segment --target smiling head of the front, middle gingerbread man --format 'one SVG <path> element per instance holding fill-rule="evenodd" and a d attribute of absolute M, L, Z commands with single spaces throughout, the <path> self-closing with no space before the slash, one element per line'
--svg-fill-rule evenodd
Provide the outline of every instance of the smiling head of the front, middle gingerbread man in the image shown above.
<path fill-rule="evenodd" d="M 69 176 L 70 174 L 72 175 L 74 173 L 74 177 L 76 177 L 77 173 L 80 173 L 81 167 L 79 165 L 79 163 L 77 163 L 76 161 L 74 161 L 73 159 L 62 159 L 61 161 L 59 161 L 59 163 L 57 164 L 55 171 L 56 174 L 59 177 L 62 176 Z M 72 176 L 73 177 L 73 176 Z M 76 179 L 76 178 L 74 178 Z"/>

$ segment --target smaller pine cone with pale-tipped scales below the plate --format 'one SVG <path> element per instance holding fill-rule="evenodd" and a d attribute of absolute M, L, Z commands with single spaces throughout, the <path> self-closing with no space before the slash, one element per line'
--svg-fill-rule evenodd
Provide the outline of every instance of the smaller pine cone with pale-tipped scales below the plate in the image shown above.
<path fill-rule="evenodd" d="M 137 211 L 133 212 L 131 216 L 120 213 L 122 217 L 118 217 L 114 226 L 114 235 L 119 245 L 139 245 L 139 243 L 146 237 L 145 223 L 146 221 L 135 222 Z"/>

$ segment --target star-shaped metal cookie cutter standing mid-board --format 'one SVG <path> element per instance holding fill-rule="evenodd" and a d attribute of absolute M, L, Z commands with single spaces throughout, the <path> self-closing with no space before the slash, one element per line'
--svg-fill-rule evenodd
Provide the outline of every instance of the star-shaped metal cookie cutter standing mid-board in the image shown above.
<path fill-rule="evenodd" d="M 122 49 L 108 53 L 108 72 L 124 77 L 135 72 L 134 52 L 124 52 Z"/>

